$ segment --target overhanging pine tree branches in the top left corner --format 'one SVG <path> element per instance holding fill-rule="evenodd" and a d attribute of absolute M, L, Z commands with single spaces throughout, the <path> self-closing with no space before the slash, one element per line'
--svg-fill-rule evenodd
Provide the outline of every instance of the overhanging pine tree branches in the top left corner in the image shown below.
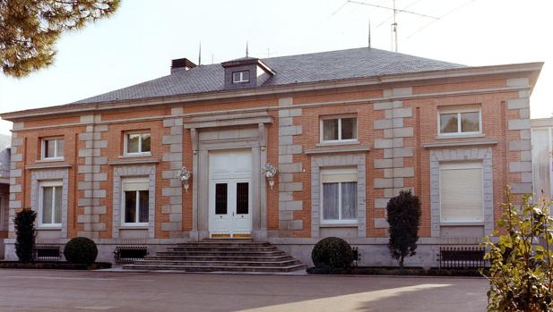
<path fill-rule="evenodd" d="M 54 62 L 56 41 L 114 13 L 120 0 L 0 0 L 0 64 L 24 77 Z"/>

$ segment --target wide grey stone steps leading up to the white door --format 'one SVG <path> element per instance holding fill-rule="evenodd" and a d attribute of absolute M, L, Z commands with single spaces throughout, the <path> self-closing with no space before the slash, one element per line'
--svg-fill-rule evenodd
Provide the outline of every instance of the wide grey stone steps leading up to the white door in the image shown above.
<path fill-rule="evenodd" d="M 292 272 L 306 266 L 268 242 L 203 240 L 169 247 L 124 269 L 185 272 Z"/>

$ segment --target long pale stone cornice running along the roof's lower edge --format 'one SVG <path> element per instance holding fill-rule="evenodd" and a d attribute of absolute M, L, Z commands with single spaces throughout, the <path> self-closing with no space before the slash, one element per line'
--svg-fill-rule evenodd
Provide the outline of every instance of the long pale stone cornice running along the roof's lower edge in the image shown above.
<path fill-rule="evenodd" d="M 283 84 L 278 86 L 262 86 L 249 89 L 233 89 L 233 90 L 217 90 L 217 91 L 208 91 L 208 92 L 197 92 L 197 93 L 188 93 L 175 96 L 164 96 L 164 97 L 144 97 L 137 99 L 121 99 L 121 100 L 111 100 L 111 101 L 102 101 L 102 102 L 92 102 L 92 103 L 79 103 L 79 104 L 65 104 L 65 105 L 55 105 L 42 108 L 35 108 L 30 110 L 15 111 L 0 114 L 0 117 L 7 121 L 16 121 L 19 119 L 24 119 L 32 116 L 39 115 L 50 115 L 50 114 L 72 114 L 72 113 L 82 113 L 85 111 L 92 110 L 108 110 L 125 107 L 122 105 L 127 103 L 129 105 L 140 104 L 143 102 L 143 105 L 162 105 L 162 104 L 174 104 L 185 101 L 186 98 L 193 98 L 192 100 L 209 100 L 212 98 L 200 98 L 194 99 L 194 97 L 209 97 L 220 94 L 228 94 L 229 97 L 249 97 L 253 96 L 252 94 L 247 94 L 248 92 L 255 91 L 254 95 L 266 95 L 270 91 L 279 91 L 281 89 L 286 89 L 283 92 L 296 92 L 309 90 L 307 88 L 309 85 L 316 87 L 317 85 L 323 84 L 322 88 L 311 88 L 311 89 L 332 89 L 332 88 L 344 88 L 348 87 L 345 85 L 347 82 L 352 82 L 356 80 L 363 80 L 365 84 L 379 84 L 379 83 L 395 83 L 406 80 L 431 80 L 437 78 L 454 78 L 462 76 L 479 76 L 479 75 L 489 75 L 489 74 L 499 74 L 499 73 L 509 73 L 509 72 L 540 72 L 543 67 L 543 62 L 536 63 L 511 63 L 511 64 L 502 64 L 502 65 L 488 65 L 488 66 L 475 66 L 475 67 L 461 67 L 453 68 L 446 70 L 436 70 L 436 71 L 426 71 L 426 72 L 403 72 L 403 73 L 393 73 L 385 74 L 380 76 L 370 76 L 370 77 L 357 77 L 357 78 L 346 78 L 341 80 L 320 80 L 320 81 L 309 81 L 309 82 L 295 82 L 289 84 Z M 494 69 L 496 71 L 494 71 Z M 488 72 L 480 72 L 486 71 Z M 465 72 L 463 74 L 463 72 Z M 441 73 L 441 75 L 440 75 Z M 457 74 L 456 74 L 457 73 Z M 419 77 L 424 76 L 424 77 Z M 342 85 L 340 85 L 342 84 Z M 303 88 L 302 88 L 303 87 Z M 292 89 L 290 89 L 292 88 Z M 533 85 L 531 86 L 533 89 Z M 289 90 L 288 90 L 289 89 Z M 227 97 L 222 97 L 227 98 Z M 191 100 L 191 101 L 192 101 Z M 151 103 L 150 103 L 151 102 Z M 117 105 L 117 107 L 116 107 Z M 72 110 L 74 108 L 74 111 Z M 64 110 L 65 112 L 60 112 Z"/>

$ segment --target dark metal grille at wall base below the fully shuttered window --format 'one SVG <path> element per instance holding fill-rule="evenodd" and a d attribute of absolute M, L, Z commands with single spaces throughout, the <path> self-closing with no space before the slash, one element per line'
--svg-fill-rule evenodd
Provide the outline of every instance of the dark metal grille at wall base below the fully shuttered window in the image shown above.
<path fill-rule="evenodd" d="M 438 261 L 440 268 L 481 268 L 488 261 L 484 259 L 486 249 L 480 247 L 440 247 Z"/>

